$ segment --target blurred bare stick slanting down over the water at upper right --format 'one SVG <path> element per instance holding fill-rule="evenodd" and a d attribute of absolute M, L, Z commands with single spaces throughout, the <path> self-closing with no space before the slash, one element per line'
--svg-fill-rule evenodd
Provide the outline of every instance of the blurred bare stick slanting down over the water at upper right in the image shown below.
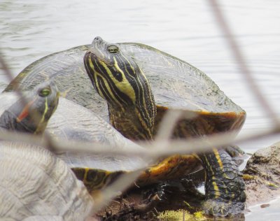
<path fill-rule="evenodd" d="M 253 74 L 252 74 L 251 70 L 248 68 L 246 59 L 245 59 L 243 53 L 241 52 L 240 47 L 238 46 L 235 36 L 232 34 L 232 31 L 229 27 L 228 22 L 225 21 L 225 16 L 223 15 L 223 12 L 222 12 L 220 6 L 218 6 L 218 3 L 216 0 L 209 0 L 209 3 L 212 7 L 214 16 L 216 17 L 216 20 L 217 20 L 217 23 L 219 24 L 221 30 L 223 31 L 223 33 L 226 36 L 226 41 L 228 41 L 228 45 L 230 45 L 232 55 L 235 58 L 237 64 L 239 64 L 241 73 L 244 74 L 247 84 L 249 85 L 249 87 L 251 87 L 253 94 L 258 99 L 262 108 L 265 110 L 265 113 L 267 113 L 267 115 L 272 120 L 272 123 L 279 126 L 280 120 L 279 120 L 278 116 L 276 115 L 276 113 L 272 110 L 271 106 L 269 105 L 269 103 L 267 102 L 265 97 L 263 96 L 262 92 L 260 92 L 258 85 L 255 83 Z"/>

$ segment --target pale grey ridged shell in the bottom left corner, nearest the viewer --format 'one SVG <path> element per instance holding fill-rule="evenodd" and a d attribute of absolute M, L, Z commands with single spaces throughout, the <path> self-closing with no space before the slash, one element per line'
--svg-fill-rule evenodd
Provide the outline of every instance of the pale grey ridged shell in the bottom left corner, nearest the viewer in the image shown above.
<path fill-rule="evenodd" d="M 85 220 L 92 197 L 69 166 L 34 145 L 0 143 L 0 217 Z"/>

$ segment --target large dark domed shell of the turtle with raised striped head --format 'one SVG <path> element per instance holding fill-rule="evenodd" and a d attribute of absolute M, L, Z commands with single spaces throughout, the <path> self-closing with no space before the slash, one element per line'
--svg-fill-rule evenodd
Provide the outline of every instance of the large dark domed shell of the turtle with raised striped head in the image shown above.
<path fill-rule="evenodd" d="M 158 113 L 165 112 L 166 108 L 190 110 L 204 121 L 211 122 L 208 127 L 215 127 L 217 131 L 241 128 L 245 111 L 199 69 L 148 45 L 116 45 L 144 71 L 158 105 Z M 67 99 L 108 120 L 106 101 L 92 87 L 83 65 L 83 55 L 89 48 L 90 45 L 81 45 L 38 59 L 20 72 L 5 91 L 13 90 L 15 81 L 27 90 L 52 78 Z M 157 117 L 160 121 L 162 115 Z"/>

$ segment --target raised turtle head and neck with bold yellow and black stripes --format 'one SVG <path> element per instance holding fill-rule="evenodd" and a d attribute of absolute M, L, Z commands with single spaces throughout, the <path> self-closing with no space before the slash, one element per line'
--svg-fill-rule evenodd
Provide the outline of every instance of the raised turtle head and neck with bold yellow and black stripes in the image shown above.
<path fill-rule="evenodd" d="M 127 138 L 151 139 L 155 101 L 137 62 L 120 45 L 96 37 L 84 64 L 95 90 L 108 103 L 111 124 Z"/>

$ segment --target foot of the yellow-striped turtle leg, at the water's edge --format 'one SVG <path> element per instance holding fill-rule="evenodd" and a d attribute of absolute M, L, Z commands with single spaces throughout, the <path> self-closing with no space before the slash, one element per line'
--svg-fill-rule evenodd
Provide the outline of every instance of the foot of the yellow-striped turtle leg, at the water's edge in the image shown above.
<path fill-rule="evenodd" d="M 225 203 L 219 199 L 208 199 L 202 207 L 206 215 L 214 217 L 235 217 L 237 215 L 244 215 L 245 204 L 243 202 L 230 201 Z"/>

